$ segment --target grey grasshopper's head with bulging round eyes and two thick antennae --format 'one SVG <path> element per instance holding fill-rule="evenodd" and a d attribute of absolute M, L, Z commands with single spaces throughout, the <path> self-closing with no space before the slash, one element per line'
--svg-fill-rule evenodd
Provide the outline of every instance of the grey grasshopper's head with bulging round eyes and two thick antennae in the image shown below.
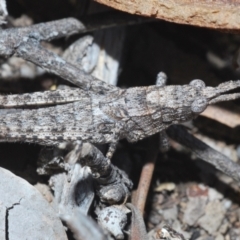
<path fill-rule="evenodd" d="M 240 81 L 228 81 L 217 87 L 206 87 L 200 79 L 189 85 L 167 86 L 161 102 L 162 119 L 166 124 L 186 122 L 202 113 L 208 105 L 240 98 L 240 93 L 225 94 L 240 87 Z"/>

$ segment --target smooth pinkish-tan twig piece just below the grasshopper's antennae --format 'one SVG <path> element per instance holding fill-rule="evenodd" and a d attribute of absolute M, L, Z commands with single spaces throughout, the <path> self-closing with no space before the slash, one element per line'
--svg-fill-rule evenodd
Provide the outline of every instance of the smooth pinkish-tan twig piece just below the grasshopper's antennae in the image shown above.
<path fill-rule="evenodd" d="M 230 112 L 218 106 L 208 106 L 207 109 L 201 113 L 201 116 L 213 119 L 231 128 L 240 125 L 239 114 Z"/>

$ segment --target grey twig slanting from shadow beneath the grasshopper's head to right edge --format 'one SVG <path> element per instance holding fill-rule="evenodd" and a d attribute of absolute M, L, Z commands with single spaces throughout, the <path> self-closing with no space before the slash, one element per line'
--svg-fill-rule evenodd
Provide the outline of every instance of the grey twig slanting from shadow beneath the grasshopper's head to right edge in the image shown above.
<path fill-rule="evenodd" d="M 185 127 L 172 125 L 168 128 L 167 134 L 173 140 L 190 148 L 200 159 L 212 164 L 236 181 L 240 181 L 240 166 L 237 163 L 192 136 Z"/>

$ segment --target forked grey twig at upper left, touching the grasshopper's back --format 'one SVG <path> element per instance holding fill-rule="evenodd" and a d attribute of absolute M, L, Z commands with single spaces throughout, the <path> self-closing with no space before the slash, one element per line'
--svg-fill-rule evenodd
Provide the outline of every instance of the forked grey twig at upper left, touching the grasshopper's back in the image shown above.
<path fill-rule="evenodd" d="M 16 54 L 86 91 L 104 93 L 117 90 L 117 87 L 84 73 L 39 44 L 41 40 L 52 40 L 76 33 L 81 26 L 76 19 L 68 18 L 26 28 L 4 30 L 0 33 L 0 55 L 10 57 Z"/>

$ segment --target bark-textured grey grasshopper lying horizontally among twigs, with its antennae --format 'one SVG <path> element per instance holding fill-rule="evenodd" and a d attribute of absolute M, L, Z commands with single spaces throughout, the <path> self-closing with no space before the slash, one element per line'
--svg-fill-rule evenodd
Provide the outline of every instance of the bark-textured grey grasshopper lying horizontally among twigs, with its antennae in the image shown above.
<path fill-rule="evenodd" d="M 41 144 L 75 140 L 110 143 L 110 157 L 122 138 L 141 140 L 195 118 L 209 104 L 240 97 L 240 93 L 224 94 L 239 87 L 239 80 L 215 88 L 198 79 L 183 86 L 165 86 L 165 80 L 166 75 L 160 73 L 157 85 L 114 87 L 104 94 L 67 89 L 1 96 L 0 107 L 5 109 L 0 111 L 0 137 L 2 141 Z M 31 105 L 50 106 L 19 109 Z"/>

